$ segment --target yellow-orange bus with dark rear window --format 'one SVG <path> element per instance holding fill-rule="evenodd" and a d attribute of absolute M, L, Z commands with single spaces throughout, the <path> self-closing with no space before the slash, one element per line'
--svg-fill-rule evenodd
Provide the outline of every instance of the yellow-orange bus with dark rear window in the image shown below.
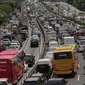
<path fill-rule="evenodd" d="M 53 69 L 57 75 L 77 73 L 78 53 L 76 44 L 61 45 L 53 53 Z"/>

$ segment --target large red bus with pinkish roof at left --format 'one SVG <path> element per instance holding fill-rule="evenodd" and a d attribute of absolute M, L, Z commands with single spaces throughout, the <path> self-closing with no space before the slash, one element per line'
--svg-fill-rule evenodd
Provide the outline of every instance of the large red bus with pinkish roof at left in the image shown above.
<path fill-rule="evenodd" d="M 0 78 L 8 78 L 13 84 L 24 72 L 25 53 L 22 50 L 5 50 L 0 53 Z"/>

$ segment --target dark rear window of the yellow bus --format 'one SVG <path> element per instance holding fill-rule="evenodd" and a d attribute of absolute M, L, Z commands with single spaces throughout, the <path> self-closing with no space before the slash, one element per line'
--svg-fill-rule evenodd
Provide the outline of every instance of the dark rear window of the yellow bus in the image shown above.
<path fill-rule="evenodd" d="M 71 59 L 71 58 L 72 58 L 72 53 L 71 52 L 54 53 L 54 59 L 55 60 Z"/>

